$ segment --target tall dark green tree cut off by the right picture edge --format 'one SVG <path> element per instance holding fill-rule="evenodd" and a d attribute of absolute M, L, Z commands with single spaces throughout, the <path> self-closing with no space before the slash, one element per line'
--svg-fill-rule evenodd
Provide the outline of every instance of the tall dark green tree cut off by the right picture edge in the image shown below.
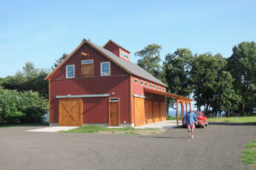
<path fill-rule="evenodd" d="M 228 71 L 235 79 L 234 88 L 242 96 L 239 110 L 242 115 L 255 109 L 255 77 L 256 77 L 256 43 L 241 42 L 233 48 L 228 60 Z"/>

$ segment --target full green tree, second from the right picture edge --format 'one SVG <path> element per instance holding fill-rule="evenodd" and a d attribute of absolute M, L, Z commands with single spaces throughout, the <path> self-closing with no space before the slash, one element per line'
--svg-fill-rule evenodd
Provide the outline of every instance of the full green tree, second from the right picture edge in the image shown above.
<path fill-rule="evenodd" d="M 210 111 L 218 84 L 218 76 L 221 71 L 224 71 L 225 65 L 226 60 L 221 54 L 195 55 L 191 68 L 191 81 L 198 111 L 201 111 L 202 105 L 205 106 L 206 112 Z"/>

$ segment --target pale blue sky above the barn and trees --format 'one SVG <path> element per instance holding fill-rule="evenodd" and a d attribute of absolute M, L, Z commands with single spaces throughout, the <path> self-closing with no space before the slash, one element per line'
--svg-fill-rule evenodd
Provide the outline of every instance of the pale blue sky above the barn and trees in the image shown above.
<path fill-rule="evenodd" d="M 201 54 L 232 54 L 242 41 L 256 40 L 256 1 L 2 1 L 0 77 L 14 75 L 26 61 L 50 68 L 82 38 L 109 39 L 134 53 L 162 45 L 161 58 L 177 48 Z"/>

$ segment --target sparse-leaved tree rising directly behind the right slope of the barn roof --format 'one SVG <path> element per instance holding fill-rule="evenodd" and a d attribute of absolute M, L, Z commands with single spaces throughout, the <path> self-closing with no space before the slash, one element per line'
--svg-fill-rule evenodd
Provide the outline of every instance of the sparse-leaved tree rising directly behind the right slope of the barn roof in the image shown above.
<path fill-rule="evenodd" d="M 158 44 L 149 44 L 147 47 L 135 53 L 135 56 L 141 59 L 137 60 L 137 65 L 143 67 L 146 71 L 152 74 L 154 77 L 162 78 L 161 65 L 160 65 L 160 49 Z"/>

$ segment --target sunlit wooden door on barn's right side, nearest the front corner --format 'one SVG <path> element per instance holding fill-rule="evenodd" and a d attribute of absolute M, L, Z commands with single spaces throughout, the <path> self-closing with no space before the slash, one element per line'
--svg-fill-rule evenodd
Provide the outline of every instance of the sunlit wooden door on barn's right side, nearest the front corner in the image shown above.
<path fill-rule="evenodd" d="M 144 107 L 144 99 L 143 98 L 134 98 L 135 101 L 135 122 L 134 125 L 142 126 L 144 125 L 145 119 L 145 107 Z"/>

